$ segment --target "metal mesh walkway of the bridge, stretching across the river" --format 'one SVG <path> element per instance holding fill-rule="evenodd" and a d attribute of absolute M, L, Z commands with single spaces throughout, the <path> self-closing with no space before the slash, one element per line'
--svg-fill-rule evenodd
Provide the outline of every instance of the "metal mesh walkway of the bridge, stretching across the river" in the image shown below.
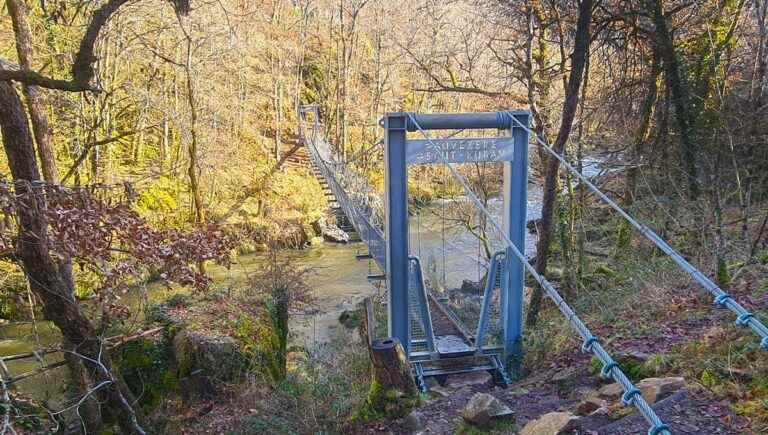
<path fill-rule="evenodd" d="M 305 107 L 299 115 L 300 137 L 309 151 L 314 174 L 333 194 L 329 199 L 334 212 L 338 212 L 337 219 L 348 222 L 368 246 L 368 254 L 358 258 L 372 259 L 381 272 L 385 272 L 384 210 L 378 194 L 362 175 L 334 156 L 322 134 L 317 108 Z M 494 261 L 501 263 L 502 258 L 500 254 Z M 502 264 L 492 268 L 491 273 L 495 275 L 488 279 L 492 285 L 486 293 L 499 291 L 502 269 Z M 384 276 L 371 275 L 369 278 L 383 279 Z M 409 257 L 408 276 L 410 342 L 407 348 L 419 387 L 426 391 L 425 379 L 430 376 L 472 371 L 489 371 L 497 382 L 508 385 L 510 379 L 500 357 L 502 348 L 483 346 L 492 322 L 481 322 L 473 331 L 462 325 L 444 301 L 428 288 L 418 257 Z M 490 308 L 485 307 L 485 310 Z M 498 321 L 498 315 L 492 320 Z"/>

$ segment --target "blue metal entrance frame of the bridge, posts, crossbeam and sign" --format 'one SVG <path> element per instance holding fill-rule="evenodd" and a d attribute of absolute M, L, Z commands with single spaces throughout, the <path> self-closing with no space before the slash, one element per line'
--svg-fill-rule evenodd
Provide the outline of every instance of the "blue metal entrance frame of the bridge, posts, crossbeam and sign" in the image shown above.
<path fill-rule="evenodd" d="M 514 112 L 528 123 L 527 112 Z M 424 126 L 422 126 L 424 124 Z M 390 295 L 390 334 L 401 342 L 410 344 L 407 328 L 408 300 L 402 297 L 399 281 L 405 266 L 402 252 L 408 249 L 407 172 L 406 163 L 449 163 L 464 161 L 504 160 L 504 225 L 508 237 L 524 250 L 528 172 L 528 133 L 512 126 L 506 112 L 463 114 L 412 114 L 390 113 L 383 120 L 386 129 L 385 188 L 386 188 L 386 237 L 387 278 Z M 406 140 L 406 130 L 423 129 L 485 129 L 507 130 L 501 139 L 438 139 L 427 141 Z M 411 148 L 412 147 L 412 148 Z M 477 148 L 476 151 L 475 148 Z M 511 162 L 509 162 L 511 160 Z M 396 253 L 396 255 L 393 255 Z M 507 255 L 509 257 L 509 255 Z M 500 279 L 501 324 L 505 361 L 519 360 L 522 356 L 523 271 L 507 259 Z M 406 276 L 407 277 L 407 276 Z M 484 303 L 489 303 L 486 300 Z M 489 310 L 483 310 L 478 323 L 485 323 L 478 331 L 484 333 Z M 448 337 L 450 338 L 450 337 Z M 442 341 L 441 341 L 442 343 Z M 438 346 L 439 347 L 439 346 Z M 474 352 L 476 349 L 472 349 Z M 481 351 L 482 352 L 482 351 Z M 454 352 L 455 353 L 455 352 Z M 453 354 L 453 353 L 451 353 Z M 464 352 L 458 352 L 464 354 Z"/>

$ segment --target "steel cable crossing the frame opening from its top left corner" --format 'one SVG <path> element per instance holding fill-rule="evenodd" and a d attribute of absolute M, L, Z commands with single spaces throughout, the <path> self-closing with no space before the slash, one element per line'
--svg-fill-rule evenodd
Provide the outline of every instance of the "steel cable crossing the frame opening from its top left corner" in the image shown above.
<path fill-rule="evenodd" d="M 587 328 L 587 326 L 584 324 L 584 322 L 579 319 L 573 309 L 565 302 L 563 297 L 560 296 L 560 293 L 557 292 L 552 284 L 544 276 L 539 275 L 539 273 L 536 272 L 536 269 L 531 266 L 531 264 L 525 258 L 525 254 L 520 252 L 517 246 L 512 243 L 512 240 L 509 238 L 509 236 L 502 230 L 501 226 L 499 226 L 488 209 L 483 206 L 483 203 L 472 191 L 468 181 L 456 169 L 454 164 L 449 163 L 446 160 L 440 146 L 438 146 L 432 140 L 432 138 L 421 128 L 412 114 L 408 113 L 408 117 L 411 119 L 411 122 L 413 122 L 413 125 L 416 127 L 416 129 L 422 134 L 422 136 L 424 136 L 427 142 L 429 142 L 429 144 L 435 150 L 436 154 L 440 156 L 440 159 L 443 161 L 443 163 L 448 167 L 448 169 L 450 169 L 453 177 L 459 182 L 459 184 L 462 185 L 467 193 L 467 196 L 469 196 L 477 208 L 481 210 L 483 214 L 485 214 L 488 222 L 496 229 L 496 231 L 501 234 L 505 244 L 510 249 L 510 251 L 512 251 L 515 257 L 517 257 L 517 260 L 523 265 L 523 267 L 525 267 L 525 269 L 529 274 L 531 274 L 536 282 L 538 282 L 539 285 L 541 285 L 541 287 L 546 290 L 547 295 L 555 302 L 557 308 L 566 317 L 572 329 L 574 329 L 584 340 L 581 346 L 582 352 L 592 352 L 592 354 L 594 354 L 600 360 L 600 362 L 603 363 L 603 368 L 600 374 L 605 378 L 613 379 L 614 381 L 618 382 L 619 385 L 621 385 L 622 389 L 624 390 L 624 394 L 622 395 L 622 403 L 625 406 L 634 405 L 640 411 L 646 421 L 651 424 L 651 428 L 648 430 L 649 435 L 670 434 L 671 432 L 669 430 L 669 426 L 664 424 L 659 416 L 656 415 L 656 412 L 648 405 L 648 402 L 645 401 L 643 395 L 640 393 L 640 390 L 635 387 L 632 381 L 630 381 L 627 375 L 625 375 L 621 370 L 619 363 L 617 363 L 611 357 L 611 355 L 608 354 L 600 341 L 598 341 L 597 337 L 595 337 L 589 328 Z"/>

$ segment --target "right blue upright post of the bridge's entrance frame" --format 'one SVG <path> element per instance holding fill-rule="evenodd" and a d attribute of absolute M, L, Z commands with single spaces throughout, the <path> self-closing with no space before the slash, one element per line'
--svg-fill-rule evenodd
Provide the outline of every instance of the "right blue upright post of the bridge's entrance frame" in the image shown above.
<path fill-rule="evenodd" d="M 527 112 L 510 112 L 528 126 Z M 516 123 L 507 130 L 514 138 L 514 157 L 504 162 L 503 228 L 517 249 L 525 253 L 526 206 L 528 200 L 528 132 Z M 502 275 L 501 312 L 504 331 L 504 364 L 512 378 L 519 377 L 523 356 L 523 289 L 525 269 L 512 249 L 506 252 Z"/>

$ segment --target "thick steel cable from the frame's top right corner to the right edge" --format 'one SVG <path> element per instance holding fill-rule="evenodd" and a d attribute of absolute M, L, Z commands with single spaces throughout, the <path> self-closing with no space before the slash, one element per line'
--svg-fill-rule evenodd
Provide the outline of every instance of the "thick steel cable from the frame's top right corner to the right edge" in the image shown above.
<path fill-rule="evenodd" d="M 524 125 L 522 122 L 520 122 L 517 118 L 512 116 L 512 114 L 507 112 L 507 116 L 509 116 L 514 122 L 516 122 L 521 128 L 526 130 L 529 134 L 531 134 L 532 137 L 536 138 L 536 141 L 539 142 L 539 144 L 554 158 L 560 161 L 560 163 L 563 164 L 563 166 L 570 171 L 573 175 L 575 175 L 581 182 L 583 182 L 589 189 L 595 193 L 603 202 L 608 204 L 611 208 L 616 210 L 616 212 L 623 217 L 627 222 L 630 223 L 637 231 L 640 232 L 643 236 L 645 236 L 648 240 L 653 242 L 659 249 L 664 251 L 672 260 L 677 263 L 678 266 L 680 266 L 681 269 L 683 269 L 685 272 L 688 273 L 696 282 L 701 284 L 702 287 L 704 287 L 706 290 L 708 290 L 714 297 L 714 304 L 718 308 L 728 308 L 734 313 L 736 313 L 736 325 L 738 326 L 749 326 L 752 328 L 755 333 L 757 333 L 760 337 L 760 347 L 763 349 L 768 350 L 768 328 L 761 322 L 753 313 L 750 313 L 747 311 L 746 308 L 744 308 L 741 304 L 736 302 L 736 300 L 723 291 L 717 284 L 715 284 L 711 279 L 709 279 L 706 275 L 704 275 L 699 269 L 697 269 L 695 266 L 693 266 L 691 263 L 688 262 L 683 256 L 677 252 L 672 246 L 669 245 L 664 239 L 662 239 L 656 232 L 651 230 L 647 225 L 637 221 L 635 218 L 629 215 L 624 209 L 622 209 L 616 202 L 614 202 L 612 199 L 608 198 L 606 194 L 604 194 L 600 189 L 598 189 L 594 184 L 592 184 L 591 181 L 579 171 L 577 171 L 568 161 L 559 153 L 557 153 L 555 150 L 553 150 L 546 142 L 541 140 L 530 128 L 528 128 L 526 125 Z"/>

